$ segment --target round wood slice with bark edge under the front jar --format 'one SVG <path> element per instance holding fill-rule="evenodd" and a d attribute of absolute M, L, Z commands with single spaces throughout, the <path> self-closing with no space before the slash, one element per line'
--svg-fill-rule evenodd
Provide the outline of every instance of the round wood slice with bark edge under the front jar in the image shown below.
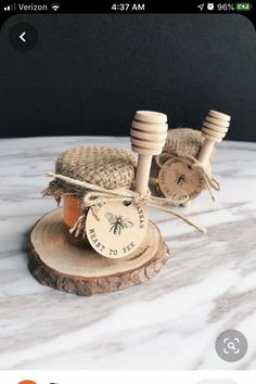
<path fill-rule="evenodd" d="M 138 249 L 111 259 L 68 241 L 62 209 L 43 216 L 29 233 L 28 269 L 42 284 L 77 295 L 124 290 L 154 278 L 168 258 L 158 228 L 150 221 Z"/>

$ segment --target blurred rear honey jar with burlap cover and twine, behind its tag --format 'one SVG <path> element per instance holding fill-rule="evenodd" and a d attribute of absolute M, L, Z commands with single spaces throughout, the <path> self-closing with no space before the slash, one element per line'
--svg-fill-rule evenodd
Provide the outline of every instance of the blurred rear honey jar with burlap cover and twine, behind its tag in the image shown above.
<path fill-rule="evenodd" d="M 203 146 L 204 137 L 201 131 L 192 128 L 170 129 L 167 135 L 166 144 L 161 155 L 154 156 L 151 167 L 150 190 L 153 195 L 164 196 L 159 187 L 158 175 L 161 168 L 168 162 L 178 161 L 188 165 L 191 169 L 199 174 L 202 179 L 202 189 L 207 188 L 212 199 L 214 199 L 213 190 L 219 190 L 218 182 L 212 177 L 210 161 L 208 161 L 205 169 L 201 167 L 196 157 Z M 195 169 L 196 168 L 196 169 Z M 200 191 L 197 192 L 200 193 Z M 196 193 L 191 195 L 194 199 Z"/>

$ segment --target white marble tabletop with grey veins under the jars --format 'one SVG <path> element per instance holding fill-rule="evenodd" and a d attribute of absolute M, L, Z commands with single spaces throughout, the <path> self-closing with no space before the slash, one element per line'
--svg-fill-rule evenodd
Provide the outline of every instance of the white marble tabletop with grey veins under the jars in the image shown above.
<path fill-rule="evenodd" d="M 223 142 L 214 158 L 222 185 L 180 208 L 203 236 L 152 213 L 171 251 L 157 278 L 91 297 L 40 285 L 27 270 L 26 233 L 55 207 L 40 199 L 56 156 L 76 145 L 129 148 L 127 138 L 0 141 L 0 369 L 256 369 L 256 144 Z M 215 340 L 227 329 L 249 344 L 235 363 Z"/>

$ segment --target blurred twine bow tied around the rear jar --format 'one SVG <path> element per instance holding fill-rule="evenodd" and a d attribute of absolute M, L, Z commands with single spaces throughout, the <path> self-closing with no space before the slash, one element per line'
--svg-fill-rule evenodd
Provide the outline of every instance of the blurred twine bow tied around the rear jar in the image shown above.
<path fill-rule="evenodd" d="M 194 169 L 197 169 L 200 175 L 204 179 L 205 187 L 208 190 L 212 200 L 216 201 L 216 196 L 215 196 L 213 190 L 219 191 L 220 185 L 219 185 L 218 181 L 215 178 L 213 178 L 205 170 L 205 168 L 202 166 L 202 164 L 194 156 L 188 155 L 188 154 L 180 152 L 180 151 L 177 151 L 176 154 L 170 154 L 170 153 L 164 152 L 161 155 L 155 156 L 155 162 L 159 168 L 164 167 L 164 165 L 165 165 L 165 162 L 164 163 L 161 162 L 161 157 L 163 155 L 165 156 L 165 162 L 166 162 L 166 159 L 175 158 L 175 159 L 178 159 L 184 164 L 190 165 Z"/>

